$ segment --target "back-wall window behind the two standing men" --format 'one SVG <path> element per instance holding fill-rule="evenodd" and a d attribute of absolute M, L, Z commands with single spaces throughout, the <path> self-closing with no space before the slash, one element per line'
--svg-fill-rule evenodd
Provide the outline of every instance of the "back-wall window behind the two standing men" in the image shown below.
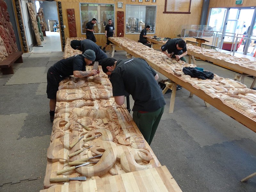
<path fill-rule="evenodd" d="M 81 29 L 82 34 L 86 33 L 86 23 L 92 18 L 97 20 L 94 25 L 95 33 L 105 33 L 105 26 L 108 24 L 108 19 L 112 20 L 114 25 L 114 4 L 88 4 L 80 3 Z"/>

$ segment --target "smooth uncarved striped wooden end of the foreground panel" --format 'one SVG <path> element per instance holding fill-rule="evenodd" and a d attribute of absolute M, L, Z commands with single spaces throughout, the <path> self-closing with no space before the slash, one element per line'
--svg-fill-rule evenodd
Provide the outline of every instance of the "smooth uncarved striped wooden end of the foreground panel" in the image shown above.
<path fill-rule="evenodd" d="M 77 192 L 77 191 L 161 191 L 182 192 L 166 166 L 124 173 L 80 184 L 57 186 L 40 192 Z"/>

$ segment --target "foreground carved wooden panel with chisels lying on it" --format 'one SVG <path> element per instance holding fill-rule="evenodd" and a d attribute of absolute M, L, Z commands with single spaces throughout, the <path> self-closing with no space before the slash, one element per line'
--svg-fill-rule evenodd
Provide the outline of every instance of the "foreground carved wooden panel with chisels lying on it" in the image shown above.
<path fill-rule="evenodd" d="M 92 70 L 92 67 L 86 66 L 86 70 Z M 148 191 L 148 184 L 157 180 L 152 182 L 155 191 L 163 188 L 164 191 L 180 192 L 166 167 L 161 167 L 126 107 L 113 102 L 108 76 L 100 66 L 99 70 L 99 76 L 83 79 L 70 76 L 59 84 L 44 178 L 44 188 L 48 190 L 42 191 L 87 191 L 92 186 L 99 190 L 121 190 L 136 189 L 136 185 L 138 191 Z M 75 167 L 85 162 L 90 163 Z M 152 171 L 147 171 L 149 169 Z M 68 179 L 78 176 L 87 179 Z M 50 182 L 51 178 L 67 181 Z M 137 184 L 128 186 L 131 179 Z M 108 182 L 118 183 L 118 186 Z"/>

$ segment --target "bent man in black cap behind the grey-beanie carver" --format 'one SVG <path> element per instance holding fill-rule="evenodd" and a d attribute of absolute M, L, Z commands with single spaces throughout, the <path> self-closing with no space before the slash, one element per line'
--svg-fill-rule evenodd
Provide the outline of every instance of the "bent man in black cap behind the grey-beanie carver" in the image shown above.
<path fill-rule="evenodd" d="M 94 43 L 89 39 L 84 39 L 81 41 L 78 41 L 78 40 L 70 41 L 70 46 L 75 50 L 77 49 L 79 51 L 82 51 L 82 53 L 84 53 L 88 49 L 93 50 L 96 55 L 95 61 L 98 61 L 99 64 L 100 64 L 100 60 L 108 58 L 107 54 L 104 53 L 96 43 Z"/>

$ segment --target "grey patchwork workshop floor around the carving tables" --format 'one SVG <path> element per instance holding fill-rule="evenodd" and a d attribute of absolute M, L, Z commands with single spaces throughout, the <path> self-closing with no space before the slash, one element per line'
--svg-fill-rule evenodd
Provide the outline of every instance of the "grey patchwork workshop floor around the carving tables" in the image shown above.
<path fill-rule="evenodd" d="M 115 58 L 125 58 L 125 53 L 117 51 Z M 62 55 L 51 50 L 25 53 L 24 63 L 14 64 L 14 75 L 0 74 L 0 191 L 43 189 L 52 132 L 46 72 Z M 235 74 L 208 62 L 196 64 L 223 77 Z M 252 80 L 246 77 L 245 84 L 250 86 Z M 167 104 L 151 148 L 181 190 L 256 191 L 256 177 L 240 182 L 256 172 L 256 133 L 218 109 L 206 108 L 200 98 L 188 97 L 185 89 L 177 91 L 174 113 L 169 114 L 170 96 L 164 95 Z"/>

